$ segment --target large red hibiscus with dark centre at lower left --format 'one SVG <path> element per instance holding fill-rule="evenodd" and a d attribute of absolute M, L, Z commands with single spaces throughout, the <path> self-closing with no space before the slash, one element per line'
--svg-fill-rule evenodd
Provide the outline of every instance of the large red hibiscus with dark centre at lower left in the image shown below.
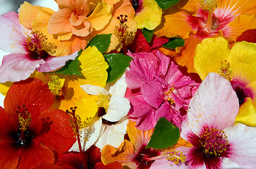
<path fill-rule="evenodd" d="M 52 109 L 54 95 L 37 79 L 14 83 L 0 107 L 1 168 L 35 168 L 54 163 L 75 142 L 70 115 Z"/>

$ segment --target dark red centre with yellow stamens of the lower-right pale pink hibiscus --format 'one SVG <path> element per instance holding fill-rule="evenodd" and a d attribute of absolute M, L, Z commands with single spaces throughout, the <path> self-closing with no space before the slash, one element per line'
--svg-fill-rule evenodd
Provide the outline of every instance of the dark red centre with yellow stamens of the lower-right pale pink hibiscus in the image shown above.
<path fill-rule="evenodd" d="M 205 163 L 207 168 L 220 168 L 221 158 L 230 154 L 230 144 L 223 130 L 204 127 L 200 136 L 194 133 L 188 135 L 193 144 L 187 159 L 190 165 L 200 166 Z"/>

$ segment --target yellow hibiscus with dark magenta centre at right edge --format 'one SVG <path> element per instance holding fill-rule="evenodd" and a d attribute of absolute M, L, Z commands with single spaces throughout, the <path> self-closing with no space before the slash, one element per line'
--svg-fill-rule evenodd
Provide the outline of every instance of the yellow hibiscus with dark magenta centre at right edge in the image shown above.
<path fill-rule="evenodd" d="M 219 73 L 231 82 L 240 110 L 236 121 L 256 126 L 256 44 L 237 42 L 232 49 L 222 37 L 207 38 L 195 50 L 195 70 L 204 80 L 208 73 Z M 250 111 L 249 111 L 250 110 Z"/>

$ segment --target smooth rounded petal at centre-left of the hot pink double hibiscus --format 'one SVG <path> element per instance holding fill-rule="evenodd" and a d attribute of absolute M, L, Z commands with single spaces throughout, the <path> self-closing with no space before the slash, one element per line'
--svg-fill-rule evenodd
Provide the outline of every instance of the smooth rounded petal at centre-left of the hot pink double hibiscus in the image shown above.
<path fill-rule="evenodd" d="M 154 108 L 159 108 L 164 101 L 164 92 L 159 82 L 144 80 L 141 84 L 140 92 L 147 104 Z"/>

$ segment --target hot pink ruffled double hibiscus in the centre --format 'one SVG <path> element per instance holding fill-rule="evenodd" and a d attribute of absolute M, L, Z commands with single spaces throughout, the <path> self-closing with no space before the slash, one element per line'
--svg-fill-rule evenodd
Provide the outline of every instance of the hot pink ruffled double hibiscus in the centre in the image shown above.
<path fill-rule="evenodd" d="M 188 103 L 199 86 L 169 57 L 160 51 L 154 53 L 128 52 L 133 57 L 126 71 L 126 97 L 132 104 L 128 117 L 142 131 L 152 129 L 161 117 L 181 127 Z"/>

